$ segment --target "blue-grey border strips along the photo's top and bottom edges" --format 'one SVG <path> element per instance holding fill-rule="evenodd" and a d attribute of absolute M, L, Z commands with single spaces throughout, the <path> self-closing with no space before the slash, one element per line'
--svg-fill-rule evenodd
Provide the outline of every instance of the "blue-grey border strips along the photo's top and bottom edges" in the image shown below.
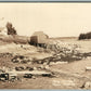
<path fill-rule="evenodd" d="M 1 2 L 41 2 L 41 3 L 54 3 L 54 2 L 64 2 L 64 3 L 91 3 L 91 0 L 0 0 Z M 91 90 L 62 90 L 62 89 L 53 89 L 53 90 L 44 90 L 44 89 L 0 89 L 0 91 L 91 91 Z"/>

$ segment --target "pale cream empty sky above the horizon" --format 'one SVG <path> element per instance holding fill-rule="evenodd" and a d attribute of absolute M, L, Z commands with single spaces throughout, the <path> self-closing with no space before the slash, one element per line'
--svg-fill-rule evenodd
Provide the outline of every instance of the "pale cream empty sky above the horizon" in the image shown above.
<path fill-rule="evenodd" d="M 78 37 L 91 31 L 91 3 L 0 3 L 0 27 L 8 22 L 21 36 Z"/>

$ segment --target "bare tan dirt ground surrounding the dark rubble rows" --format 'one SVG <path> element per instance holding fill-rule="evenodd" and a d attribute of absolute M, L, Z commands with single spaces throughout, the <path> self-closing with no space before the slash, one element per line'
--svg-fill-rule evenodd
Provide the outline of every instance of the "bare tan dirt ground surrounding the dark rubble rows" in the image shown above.
<path fill-rule="evenodd" d="M 66 39 L 61 42 L 75 43 L 79 46 L 81 53 L 91 52 L 91 40 Z M 39 52 L 40 48 L 29 44 L 4 43 L 0 46 L 0 53 L 21 54 L 37 60 L 52 56 L 52 52 Z M 42 49 L 41 49 L 42 50 Z M 0 67 L 30 66 L 30 64 L 12 63 L 13 56 L 0 56 Z M 86 72 L 86 67 L 91 67 L 91 56 L 67 64 L 50 65 L 49 70 L 54 73 L 54 77 L 23 78 L 17 81 L 0 81 L 0 89 L 91 89 L 91 70 Z M 87 82 L 88 86 L 86 84 Z"/>

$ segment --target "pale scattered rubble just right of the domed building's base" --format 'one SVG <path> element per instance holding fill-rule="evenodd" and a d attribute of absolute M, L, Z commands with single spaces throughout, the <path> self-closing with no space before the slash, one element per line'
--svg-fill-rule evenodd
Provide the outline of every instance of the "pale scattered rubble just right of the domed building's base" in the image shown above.
<path fill-rule="evenodd" d="M 54 40 L 54 41 L 50 40 L 46 43 L 46 46 L 47 46 L 47 49 L 51 49 L 52 51 L 55 51 L 55 52 L 57 51 L 65 52 L 65 49 L 72 52 L 73 50 L 80 48 L 80 46 L 78 44 L 75 44 L 75 43 L 70 44 L 69 42 L 63 42 L 61 40 Z"/>

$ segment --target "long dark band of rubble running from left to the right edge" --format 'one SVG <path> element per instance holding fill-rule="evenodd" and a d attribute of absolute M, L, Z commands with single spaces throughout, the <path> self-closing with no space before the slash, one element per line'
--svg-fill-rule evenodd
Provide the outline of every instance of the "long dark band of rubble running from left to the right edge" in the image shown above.
<path fill-rule="evenodd" d="M 44 64 L 44 65 L 50 65 L 51 63 L 60 63 L 60 62 L 74 62 L 74 61 L 80 61 L 84 57 L 91 56 L 90 53 L 64 53 L 64 52 L 58 52 L 56 54 L 53 54 L 52 56 L 42 58 L 42 60 L 37 60 L 37 58 L 29 58 L 24 55 L 15 55 L 12 58 L 13 63 L 22 63 L 22 64 Z"/>

